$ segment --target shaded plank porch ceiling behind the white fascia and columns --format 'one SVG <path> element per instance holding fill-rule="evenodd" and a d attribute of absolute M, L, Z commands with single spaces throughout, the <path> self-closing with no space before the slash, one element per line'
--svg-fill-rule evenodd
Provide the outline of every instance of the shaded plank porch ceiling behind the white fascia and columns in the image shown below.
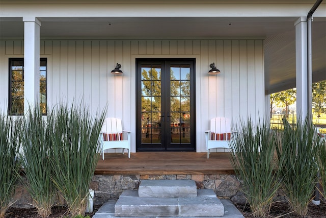
<path fill-rule="evenodd" d="M 295 87 L 297 17 L 40 17 L 41 39 L 265 39 L 265 93 Z M 0 39 L 23 39 L 0 18 Z M 326 80 L 326 17 L 312 22 L 313 82 Z"/>

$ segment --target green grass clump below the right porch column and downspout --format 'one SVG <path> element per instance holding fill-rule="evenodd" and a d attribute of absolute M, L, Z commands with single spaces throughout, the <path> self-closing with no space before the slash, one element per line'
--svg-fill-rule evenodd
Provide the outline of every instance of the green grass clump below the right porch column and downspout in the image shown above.
<path fill-rule="evenodd" d="M 313 199 L 320 141 L 309 117 L 292 124 L 283 118 L 283 125 L 277 147 L 282 188 L 291 210 L 304 217 Z"/>

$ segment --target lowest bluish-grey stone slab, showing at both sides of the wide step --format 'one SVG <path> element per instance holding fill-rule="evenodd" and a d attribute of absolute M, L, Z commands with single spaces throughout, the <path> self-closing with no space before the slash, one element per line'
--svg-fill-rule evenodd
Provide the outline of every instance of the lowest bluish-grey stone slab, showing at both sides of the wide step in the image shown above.
<path fill-rule="evenodd" d="M 244 218 L 242 213 L 230 202 L 229 200 L 221 200 L 224 206 L 224 216 L 223 218 Z M 109 200 L 108 202 L 104 203 L 97 212 L 93 215 L 93 218 L 130 218 L 130 216 L 115 216 L 115 204 L 116 200 Z M 162 216 L 133 216 L 133 217 L 144 217 L 144 218 L 167 218 Z M 218 218 L 221 216 L 188 216 L 187 218 Z M 181 218 L 181 216 L 175 216 L 174 218 Z"/>

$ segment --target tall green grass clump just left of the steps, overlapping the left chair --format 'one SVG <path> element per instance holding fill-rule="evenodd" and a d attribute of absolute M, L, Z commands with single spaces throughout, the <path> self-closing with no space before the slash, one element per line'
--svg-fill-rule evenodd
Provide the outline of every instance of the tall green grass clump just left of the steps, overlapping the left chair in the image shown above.
<path fill-rule="evenodd" d="M 53 143 L 52 181 L 65 199 L 71 216 L 85 215 L 105 113 L 92 116 L 82 104 L 58 105 L 53 110 L 52 123 L 48 123 Z"/>

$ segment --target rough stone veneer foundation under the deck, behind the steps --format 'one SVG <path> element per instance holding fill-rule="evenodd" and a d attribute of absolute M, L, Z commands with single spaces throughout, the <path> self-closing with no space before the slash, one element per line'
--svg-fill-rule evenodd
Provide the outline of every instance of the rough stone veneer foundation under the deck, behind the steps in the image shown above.
<path fill-rule="evenodd" d="M 108 200 L 117 200 L 124 190 L 138 190 L 141 180 L 194 180 L 197 189 L 213 189 L 220 199 L 229 199 L 233 203 L 244 204 L 246 199 L 240 189 L 241 183 L 235 175 L 94 175 L 91 187 L 95 190 L 94 204 L 100 205 Z M 15 190 L 13 207 L 31 207 L 32 198 L 23 184 Z M 58 203 L 61 203 L 58 200 Z"/>

